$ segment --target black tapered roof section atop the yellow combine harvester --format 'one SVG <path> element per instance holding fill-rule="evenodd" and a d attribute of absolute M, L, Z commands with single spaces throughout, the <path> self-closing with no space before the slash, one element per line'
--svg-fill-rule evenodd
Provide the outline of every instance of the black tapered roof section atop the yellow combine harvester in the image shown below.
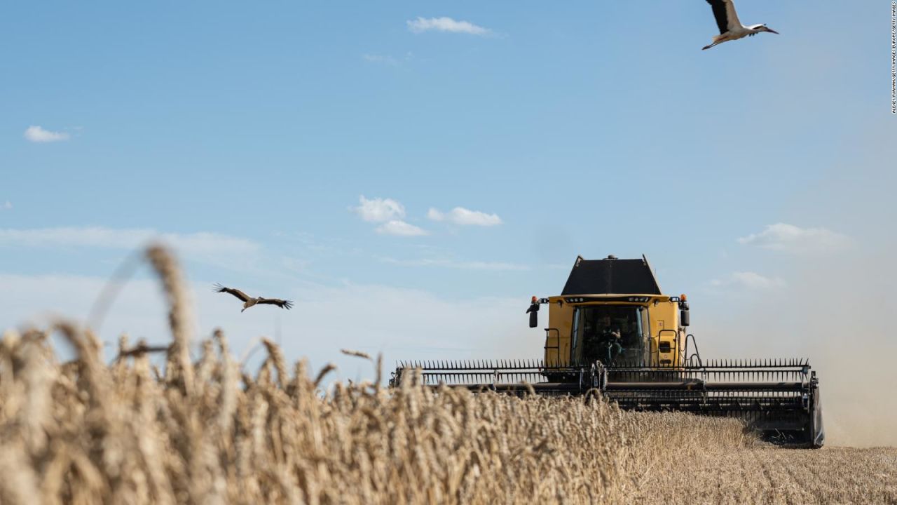
<path fill-rule="evenodd" d="M 567 295 L 660 295 L 658 279 L 642 256 L 639 260 L 584 260 L 578 256 L 562 296 Z"/>

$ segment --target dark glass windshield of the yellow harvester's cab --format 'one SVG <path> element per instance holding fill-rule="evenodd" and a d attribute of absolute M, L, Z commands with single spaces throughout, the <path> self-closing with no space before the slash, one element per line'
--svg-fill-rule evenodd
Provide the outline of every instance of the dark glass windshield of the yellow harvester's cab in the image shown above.
<path fill-rule="evenodd" d="M 649 339 L 641 306 L 578 306 L 573 313 L 573 353 L 583 362 L 642 362 Z"/>

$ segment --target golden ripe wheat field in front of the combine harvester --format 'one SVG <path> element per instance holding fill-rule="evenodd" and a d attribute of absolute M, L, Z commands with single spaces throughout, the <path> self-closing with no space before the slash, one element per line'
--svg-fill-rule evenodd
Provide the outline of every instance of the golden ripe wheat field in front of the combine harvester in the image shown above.
<path fill-rule="evenodd" d="M 220 331 L 191 359 L 177 265 L 147 256 L 169 346 L 123 336 L 106 362 L 73 323 L 4 333 L 0 503 L 897 503 L 893 448 L 781 449 L 734 420 L 597 398 L 388 390 L 379 359 L 369 382 L 325 387 L 331 367 L 267 340 L 245 370 Z"/>

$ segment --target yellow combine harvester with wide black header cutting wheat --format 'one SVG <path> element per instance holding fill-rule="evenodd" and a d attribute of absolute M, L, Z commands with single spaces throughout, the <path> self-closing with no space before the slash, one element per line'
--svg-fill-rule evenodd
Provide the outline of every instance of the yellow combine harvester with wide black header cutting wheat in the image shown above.
<path fill-rule="evenodd" d="M 426 385 L 512 394 L 603 394 L 624 409 L 732 416 L 770 441 L 822 447 L 816 373 L 806 359 L 702 360 L 685 296 L 660 292 L 648 260 L 577 258 L 548 306 L 544 358 L 400 362 L 390 384 L 421 369 Z"/>

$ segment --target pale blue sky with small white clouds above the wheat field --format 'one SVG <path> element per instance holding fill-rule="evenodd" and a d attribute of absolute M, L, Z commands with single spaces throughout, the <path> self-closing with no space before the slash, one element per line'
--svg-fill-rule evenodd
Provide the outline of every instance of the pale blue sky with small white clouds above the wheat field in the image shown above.
<path fill-rule="evenodd" d="M 700 0 L 4 4 L 0 326 L 83 319 L 151 236 L 179 248 L 201 335 L 283 332 L 317 365 L 537 354 L 523 310 L 577 254 L 647 254 L 706 333 L 800 328 L 764 304 L 858 259 L 884 293 L 890 4 L 738 8 L 781 35 L 701 51 Z M 146 279 L 106 340 L 163 338 Z M 216 281 L 297 306 L 240 315 Z M 767 333 L 705 346 L 809 354 Z"/>

